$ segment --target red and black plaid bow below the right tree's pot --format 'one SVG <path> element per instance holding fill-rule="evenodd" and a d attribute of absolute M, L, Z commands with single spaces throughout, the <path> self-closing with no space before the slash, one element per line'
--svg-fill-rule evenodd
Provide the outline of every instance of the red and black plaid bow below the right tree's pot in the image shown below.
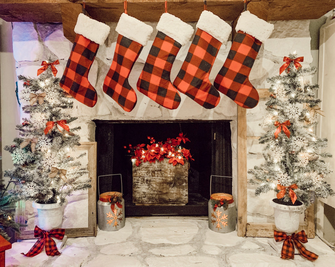
<path fill-rule="evenodd" d="M 319 256 L 315 253 L 307 250 L 302 243 L 307 243 L 307 236 L 304 230 L 298 233 L 292 233 L 287 235 L 284 232 L 274 230 L 274 239 L 276 242 L 284 240 L 283 247 L 281 249 L 282 259 L 294 259 L 294 246 L 300 252 L 301 256 L 305 257 L 310 261 L 315 261 Z"/>

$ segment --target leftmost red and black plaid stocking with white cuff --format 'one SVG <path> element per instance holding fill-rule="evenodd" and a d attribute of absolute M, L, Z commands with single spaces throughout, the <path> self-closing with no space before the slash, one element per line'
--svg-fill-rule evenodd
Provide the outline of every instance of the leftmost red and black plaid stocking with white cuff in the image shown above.
<path fill-rule="evenodd" d="M 102 22 L 79 14 L 74 32 L 77 34 L 60 87 L 79 102 L 93 107 L 97 94 L 88 82 L 88 71 L 93 63 L 99 45 L 103 44 L 110 27 Z"/>

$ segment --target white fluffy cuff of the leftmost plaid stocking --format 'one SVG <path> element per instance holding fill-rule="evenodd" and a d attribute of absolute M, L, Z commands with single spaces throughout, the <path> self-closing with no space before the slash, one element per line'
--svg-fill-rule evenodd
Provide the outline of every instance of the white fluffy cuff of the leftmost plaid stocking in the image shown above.
<path fill-rule="evenodd" d="M 99 45 L 102 45 L 105 42 L 110 30 L 110 26 L 95 19 L 89 18 L 83 13 L 79 14 L 77 24 L 74 27 L 74 32 L 76 34 L 81 34 L 82 36 Z"/>

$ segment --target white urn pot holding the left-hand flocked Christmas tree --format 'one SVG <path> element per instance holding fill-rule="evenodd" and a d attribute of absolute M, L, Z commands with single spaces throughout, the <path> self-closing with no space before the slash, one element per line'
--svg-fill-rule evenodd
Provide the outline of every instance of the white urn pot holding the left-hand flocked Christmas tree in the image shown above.
<path fill-rule="evenodd" d="M 65 205 L 60 206 L 58 203 L 40 204 L 34 201 L 32 207 L 37 209 L 39 227 L 45 231 L 59 228 L 62 224 Z"/>

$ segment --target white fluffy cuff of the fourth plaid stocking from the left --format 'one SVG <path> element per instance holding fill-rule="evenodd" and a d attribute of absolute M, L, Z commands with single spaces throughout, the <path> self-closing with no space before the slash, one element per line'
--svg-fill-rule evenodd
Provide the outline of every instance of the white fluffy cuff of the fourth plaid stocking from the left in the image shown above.
<path fill-rule="evenodd" d="M 227 22 L 207 10 L 202 11 L 196 27 L 210 34 L 224 45 L 231 33 L 231 26 Z"/>

